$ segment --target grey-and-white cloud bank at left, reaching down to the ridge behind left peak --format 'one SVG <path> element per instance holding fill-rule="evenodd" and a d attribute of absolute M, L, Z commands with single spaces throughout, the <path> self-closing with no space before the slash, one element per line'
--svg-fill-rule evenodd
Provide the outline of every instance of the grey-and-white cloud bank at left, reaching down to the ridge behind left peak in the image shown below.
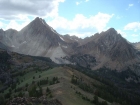
<path fill-rule="evenodd" d="M 35 17 L 56 17 L 65 0 L 0 0 L 0 28 L 22 29 Z M 6 21 L 6 22 L 5 22 Z"/>

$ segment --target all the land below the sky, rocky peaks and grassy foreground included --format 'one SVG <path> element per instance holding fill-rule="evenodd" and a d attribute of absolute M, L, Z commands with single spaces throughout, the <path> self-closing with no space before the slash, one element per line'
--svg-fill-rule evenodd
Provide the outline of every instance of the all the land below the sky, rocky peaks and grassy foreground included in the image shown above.
<path fill-rule="evenodd" d="M 37 17 L 0 29 L 0 105 L 140 105 L 140 43 L 114 28 L 84 39 Z"/>

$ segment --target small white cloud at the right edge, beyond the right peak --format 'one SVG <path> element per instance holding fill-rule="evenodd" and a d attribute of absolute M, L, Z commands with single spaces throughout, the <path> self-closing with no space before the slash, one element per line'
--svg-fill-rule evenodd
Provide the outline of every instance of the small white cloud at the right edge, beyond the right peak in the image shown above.
<path fill-rule="evenodd" d="M 124 27 L 124 30 L 133 30 L 134 32 L 136 32 L 137 30 L 140 30 L 140 22 L 128 23 Z"/>

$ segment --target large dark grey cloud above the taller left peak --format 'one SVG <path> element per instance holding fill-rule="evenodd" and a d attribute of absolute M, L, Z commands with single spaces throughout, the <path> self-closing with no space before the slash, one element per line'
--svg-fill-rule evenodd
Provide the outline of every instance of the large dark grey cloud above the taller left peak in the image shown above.
<path fill-rule="evenodd" d="M 58 3 L 63 0 L 0 0 L 0 18 L 15 19 L 19 14 L 47 16 L 57 12 Z"/>

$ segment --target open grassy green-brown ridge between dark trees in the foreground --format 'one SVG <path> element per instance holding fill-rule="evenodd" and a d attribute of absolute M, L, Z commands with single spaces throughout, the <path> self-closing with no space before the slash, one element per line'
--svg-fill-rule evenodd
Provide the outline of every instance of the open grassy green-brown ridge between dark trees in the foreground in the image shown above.
<path fill-rule="evenodd" d="M 90 79 L 86 75 L 83 75 L 82 73 L 68 67 L 55 67 L 48 70 L 28 71 L 23 76 L 17 76 L 16 78 L 19 79 L 20 84 L 17 83 L 16 88 L 25 87 L 26 84 L 28 84 L 28 87 L 30 87 L 33 81 L 37 83 L 38 81 L 44 80 L 46 78 L 48 78 L 48 80 L 50 81 L 53 79 L 53 77 L 58 77 L 60 83 L 55 83 L 53 85 L 41 85 L 43 95 L 46 95 L 46 89 L 47 87 L 49 87 L 52 92 L 53 98 L 58 99 L 60 102 L 62 102 L 63 105 L 94 105 L 90 101 L 82 99 L 82 96 L 84 96 L 90 100 L 93 100 L 94 95 L 92 93 L 85 92 L 78 86 L 75 86 L 71 83 L 71 77 L 73 74 L 81 76 L 85 81 L 89 81 Z M 95 83 L 97 82 L 95 80 L 92 81 L 94 81 Z M 9 89 L 10 88 L 8 88 L 5 93 L 8 93 Z M 76 94 L 76 91 L 81 92 L 82 96 Z M 20 92 L 22 92 L 23 94 L 25 93 L 24 96 L 28 97 L 27 90 L 23 89 Z M 12 90 L 12 96 L 18 94 L 19 92 L 14 92 L 14 90 Z"/>

